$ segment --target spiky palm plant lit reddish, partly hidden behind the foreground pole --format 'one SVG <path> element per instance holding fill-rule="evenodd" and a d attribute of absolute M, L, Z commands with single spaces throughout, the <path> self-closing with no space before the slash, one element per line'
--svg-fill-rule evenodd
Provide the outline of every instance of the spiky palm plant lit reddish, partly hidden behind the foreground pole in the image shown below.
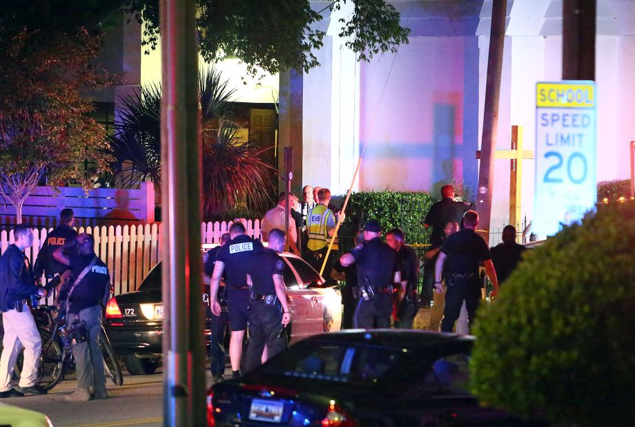
<path fill-rule="evenodd" d="M 225 216 L 239 208 L 261 211 L 271 200 L 275 169 L 256 149 L 237 136 L 229 120 L 234 88 L 219 71 L 199 75 L 204 153 L 204 215 Z M 108 154 L 115 162 L 110 185 L 136 188 L 150 180 L 161 184 L 161 86 L 144 87 L 121 98 L 124 110 L 115 121 Z M 273 147 L 271 147 L 273 149 Z"/>

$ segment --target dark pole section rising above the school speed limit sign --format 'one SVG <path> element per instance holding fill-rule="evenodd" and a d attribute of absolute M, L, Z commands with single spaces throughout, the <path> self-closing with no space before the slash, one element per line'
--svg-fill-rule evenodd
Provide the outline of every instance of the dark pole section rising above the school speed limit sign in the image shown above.
<path fill-rule="evenodd" d="M 563 1 L 563 80 L 595 80 L 596 0 Z"/>

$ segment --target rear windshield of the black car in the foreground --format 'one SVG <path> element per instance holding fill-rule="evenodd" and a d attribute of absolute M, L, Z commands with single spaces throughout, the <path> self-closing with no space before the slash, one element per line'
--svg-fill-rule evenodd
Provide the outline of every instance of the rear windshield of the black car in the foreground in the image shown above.
<path fill-rule="evenodd" d="M 262 366 L 261 372 L 300 379 L 367 385 L 407 377 L 402 349 L 373 345 L 297 343 Z M 410 373 L 411 375 L 411 373 Z"/>

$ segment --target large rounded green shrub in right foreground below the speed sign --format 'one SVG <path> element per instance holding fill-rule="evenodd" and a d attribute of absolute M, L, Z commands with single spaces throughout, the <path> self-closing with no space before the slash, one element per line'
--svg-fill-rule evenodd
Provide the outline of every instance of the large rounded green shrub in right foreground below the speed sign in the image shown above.
<path fill-rule="evenodd" d="M 600 206 L 531 249 L 482 307 L 479 399 L 556 425 L 634 425 L 635 203 Z"/>

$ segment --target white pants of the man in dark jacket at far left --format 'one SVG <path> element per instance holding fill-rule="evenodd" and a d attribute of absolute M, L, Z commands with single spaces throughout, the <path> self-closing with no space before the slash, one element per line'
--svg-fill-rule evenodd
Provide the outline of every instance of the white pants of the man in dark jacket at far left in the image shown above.
<path fill-rule="evenodd" d="M 20 376 L 20 387 L 35 386 L 37 367 L 42 352 L 42 340 L 35 326 L 33 315 L 25 304 L 22 312 L 9 310 L 2 313 L 4 339 L 0 357 L 0 392 L 10 390 L 11 374 L 18 354 L 24 347 L 24 362 Z"/>

